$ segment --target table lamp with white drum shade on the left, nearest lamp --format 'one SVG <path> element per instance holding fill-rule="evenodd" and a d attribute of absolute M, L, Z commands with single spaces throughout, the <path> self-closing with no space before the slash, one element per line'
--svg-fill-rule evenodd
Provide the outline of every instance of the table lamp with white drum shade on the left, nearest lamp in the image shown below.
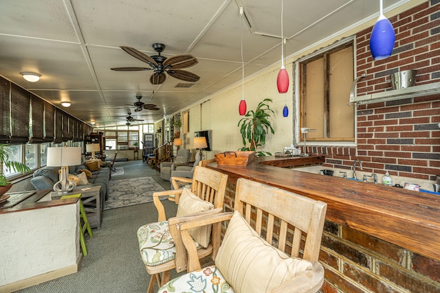
<path fill-rule="evenodd" d="M 54 191 L 65 194 L 76 187 L 69 179 L 69 166 L 81 164 L 81 148 L 47 148 L 47 167 L 61 167 L 61 180 L 54 185 Z"/>

